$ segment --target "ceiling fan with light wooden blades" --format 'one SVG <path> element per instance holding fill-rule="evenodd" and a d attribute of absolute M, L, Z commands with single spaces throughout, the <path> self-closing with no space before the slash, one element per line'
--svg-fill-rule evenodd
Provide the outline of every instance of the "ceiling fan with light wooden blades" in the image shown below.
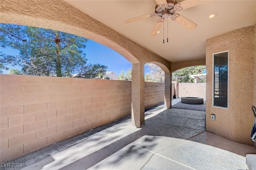
<path fill-rule="evenodd" d="M 138 16 L 136 18 L 132 18 L 129 20 L 125 20 L 124 23 L 130 23 L 137 20 L 141 20 L 148 17 L 158 16 L 160 17 L 156 22 L 150 36 L 156 36 L 158 30 L 161 28 L 164 20 L 170 17 L 172 20 L 184 26 L 188 30 L 193 30 L 196 28 L 196 24 L 189 19 L 185 18 L 184 16 L 177 14 L 176 12 L 179 10 L 184 10 L 186 8 L 191 8 L 193 6 L 197 6 L 200 4 L 204 4 L 209 2 L 210 0 L 184 0 L 179 3 L 176 0 L 155 0 L 156 1 L 156 8 L 155 13 L 146 14 L 143 16 Z"/>

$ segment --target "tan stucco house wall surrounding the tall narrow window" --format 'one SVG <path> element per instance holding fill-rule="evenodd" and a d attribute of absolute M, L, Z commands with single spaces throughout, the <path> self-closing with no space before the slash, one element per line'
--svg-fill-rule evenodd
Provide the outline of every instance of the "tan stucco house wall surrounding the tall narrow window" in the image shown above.
<path fill-rule="evenodd" d="M 234 142 L 254 145 L 250 131 L 255 94 L 254 26 L 206 40 L 206 131 Z M 212 54 L 229 50 L 228 109 L 212 107 Z M 216 114 L 216 120 L 210 119 Z"/>

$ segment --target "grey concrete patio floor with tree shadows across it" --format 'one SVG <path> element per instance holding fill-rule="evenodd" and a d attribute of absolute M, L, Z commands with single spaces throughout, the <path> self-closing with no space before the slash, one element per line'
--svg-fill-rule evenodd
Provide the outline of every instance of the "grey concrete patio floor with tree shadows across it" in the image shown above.
<path fill-rule="evenodd" d="M 130 119 L 106 128 L 22 170 L 245 170 L 252 146 L 205 132 L 205 112 L 145 112 L 145 125 Z"/>

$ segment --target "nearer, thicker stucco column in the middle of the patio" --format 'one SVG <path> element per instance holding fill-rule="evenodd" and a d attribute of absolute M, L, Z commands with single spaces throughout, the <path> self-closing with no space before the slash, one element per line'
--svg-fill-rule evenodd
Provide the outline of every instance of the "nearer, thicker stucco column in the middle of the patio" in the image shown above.
<path fill-rule="evenodd" d="M 144 64 L 132 64 L 132 125 L 142 127 L 144 120 Z"/>

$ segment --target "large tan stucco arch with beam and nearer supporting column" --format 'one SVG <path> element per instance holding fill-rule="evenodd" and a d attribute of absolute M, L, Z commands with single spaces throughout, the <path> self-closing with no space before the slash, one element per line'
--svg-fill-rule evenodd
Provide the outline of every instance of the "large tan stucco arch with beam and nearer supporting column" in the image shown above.
<path fill-rule="evenodd" d="M 36 26 L 75 34 L 112 48 L 132 63 L 132 115 L 144 124 L 144 63 L 156 61 L 170 70 L 170 62 L 81 12 L 63 0 L 2 0 L 2 23 Z M 143 117 L 143 118 L 142 118 Z"/>

